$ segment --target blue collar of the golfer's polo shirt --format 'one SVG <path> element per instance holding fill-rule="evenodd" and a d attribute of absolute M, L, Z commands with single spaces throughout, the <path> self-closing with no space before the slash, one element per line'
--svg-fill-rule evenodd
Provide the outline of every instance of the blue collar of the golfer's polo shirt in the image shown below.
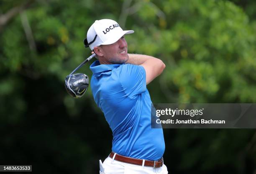
<path fill-rule="evenodd" d="M 100 61 L 96 60 L 90 65 L 90 69 L 93 74 L 98 72 L 111 71 L 119 67 L 121 64 L 100 64 Z"/>

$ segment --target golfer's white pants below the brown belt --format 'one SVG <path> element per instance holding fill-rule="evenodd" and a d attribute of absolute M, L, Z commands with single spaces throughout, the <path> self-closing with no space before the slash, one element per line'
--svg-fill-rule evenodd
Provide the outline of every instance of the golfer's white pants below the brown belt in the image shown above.
<path fill-rule="evenodd" d="M 116 161 L 109 156 L 105 159 L 101 168 L 102 171 L 100 171 L 100 174 L 168 174 L 167 167 L 164 164 L 154 169 L 153 167 Z"/>

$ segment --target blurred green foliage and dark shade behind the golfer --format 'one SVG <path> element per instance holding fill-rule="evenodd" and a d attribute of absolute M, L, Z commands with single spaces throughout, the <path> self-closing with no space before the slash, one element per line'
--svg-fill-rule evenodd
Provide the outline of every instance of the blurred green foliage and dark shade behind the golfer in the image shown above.
<path fill-rule="evenodd" d="M 255 9 L 253 0 L 1 0 L 0 164 L 98 171 L 111 130 L 91 90 L 73 99 L 64 78 L 90 55 L 83 39 L 102 18 L 135 31 L 125 36 L 128 52 L 166 64 L 148 85 L 154 103 L 255 103 Z M 90 77 L 89 64 L 79 72 Z M 169 173 L 253 173 L 254 133 L 164 130 Z"/>

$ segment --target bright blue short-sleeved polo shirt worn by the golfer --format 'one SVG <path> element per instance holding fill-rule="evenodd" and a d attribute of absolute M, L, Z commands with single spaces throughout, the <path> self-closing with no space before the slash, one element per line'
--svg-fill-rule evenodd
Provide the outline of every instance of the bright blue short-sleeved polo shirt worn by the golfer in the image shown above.
<path fill-rule="evenodd" d="M 164 154 L 164 135 L 151 128 L 151 99 L 146 71 L 133 64 L 94 61 L 91 89 L 113 132 L 112 151 L 137 159 L 158 160 Z"/>

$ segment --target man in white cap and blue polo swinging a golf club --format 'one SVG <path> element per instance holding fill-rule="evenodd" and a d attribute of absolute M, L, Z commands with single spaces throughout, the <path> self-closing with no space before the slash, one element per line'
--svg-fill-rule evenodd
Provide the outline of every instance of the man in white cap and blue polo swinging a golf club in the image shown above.
<path fill-rule="evenodd" d="M 123 31 L 110 19 L 96 20 L 85 45 L 97 55 L 90 69 L 94 100 L 113 132 L 112 152 L 100 160 L 100 174 L 167 174 L 163 130 L 151 128 L 146 89 L 165 64 L 151 56 L 128 54 Z"/>

